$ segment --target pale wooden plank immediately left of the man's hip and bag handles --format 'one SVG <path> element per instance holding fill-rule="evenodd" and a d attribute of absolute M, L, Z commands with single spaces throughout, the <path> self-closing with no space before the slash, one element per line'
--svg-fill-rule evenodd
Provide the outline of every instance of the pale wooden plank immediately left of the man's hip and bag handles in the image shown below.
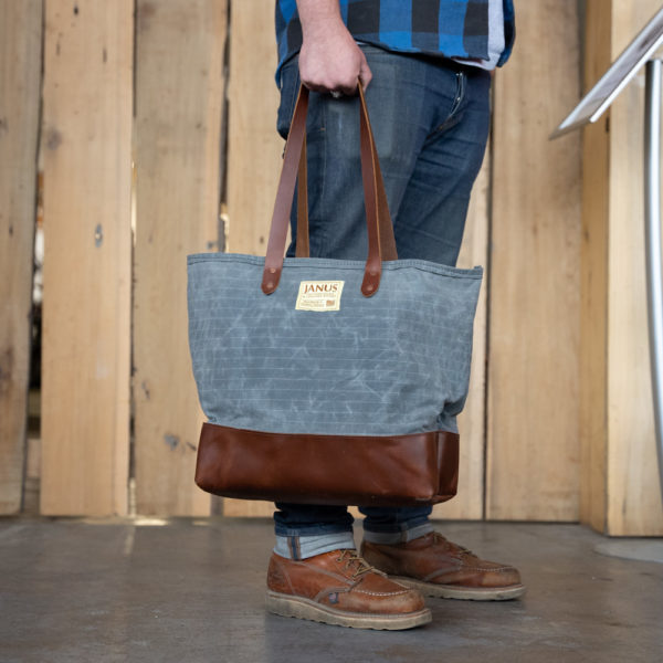
<path fill-rule="evenodd" d="M 264 11 L 259 0 L 235 0 L 231 2 L 231 30 L 227 251 L 264 255 L 283 151 L 276 133 L 274 14 Z M 273 512 L 271 502 L 223 501 L 227 516 L 271 516 Z"/>

